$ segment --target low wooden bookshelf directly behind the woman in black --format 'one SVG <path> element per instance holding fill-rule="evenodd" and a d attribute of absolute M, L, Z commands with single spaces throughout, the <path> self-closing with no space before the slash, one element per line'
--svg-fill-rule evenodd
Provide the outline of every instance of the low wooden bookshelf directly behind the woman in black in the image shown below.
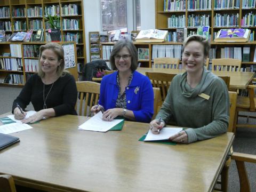
<path fill-rule="evenodd" d="M 77 64 L 77 55 L 75 51 L 75 42 L 59 42 L 61 45 L 73 44 L 74 48 L 74 60 Z M 11 53 L 11 56 L 0 57 L 0 85 L 14 85 L 23 86 L 31 75 L 37 72 L 38 69 L 38 56 L 39 47 L 44 45 L 43 43 L 13 43 L 5 42 L 1 45 L 1 50 L 5 53 Z M 13 55 L 14 53 L 14 55 Z M 71 54 L 70 54 L 71 55 Z M 4 68 L 2 69 L 2 62 L 4 60 Z M 72 59 L 73 60 L 73 59 Z M 67 65 L 67 63 L 65 63 Z M 70 74 L 74 76 L 78 81 L 77 65 L 67 69 Z M 7 77 L 11 76 L 12 83 L 5 83 Z"/>

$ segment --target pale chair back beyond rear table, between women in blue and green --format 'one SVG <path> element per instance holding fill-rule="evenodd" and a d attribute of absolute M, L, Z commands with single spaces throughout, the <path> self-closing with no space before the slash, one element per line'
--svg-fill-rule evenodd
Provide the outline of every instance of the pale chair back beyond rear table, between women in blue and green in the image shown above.
<path fill-rule="evenodd" d="M 154 68 L 179 69 L 179 63 L 177 58 L 155 58 Z"/>

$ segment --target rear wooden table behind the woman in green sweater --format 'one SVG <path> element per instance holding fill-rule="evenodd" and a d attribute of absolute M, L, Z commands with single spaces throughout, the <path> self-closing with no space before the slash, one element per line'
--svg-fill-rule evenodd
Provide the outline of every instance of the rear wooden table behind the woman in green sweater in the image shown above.
<path fill-rule="evenodd" d="M 179 74 L 185 72 L 183 69 L 156 69 L 156 68 L 146 68 L 138 67 L 137 71 L 143 75 L 146 72 L 159 72 L 159 73 L 170 73 Z M 247 85 L 250 83 L 254 77 L 254 72 L 230 72 L 230 71 L 212 71 L 213 74 L 217 76 L 230 76 L 230 89 L 246 89 Z"/>

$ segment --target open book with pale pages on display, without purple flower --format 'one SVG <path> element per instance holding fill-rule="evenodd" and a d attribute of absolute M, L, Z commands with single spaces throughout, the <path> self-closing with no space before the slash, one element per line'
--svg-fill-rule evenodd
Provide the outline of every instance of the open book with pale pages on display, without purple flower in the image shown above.
<path fill-rule="evenodd" d="M 141 30 L 136 37 L 136 42 L 164 42 L 167 35 L 167 30 L 149 29 Z"/>

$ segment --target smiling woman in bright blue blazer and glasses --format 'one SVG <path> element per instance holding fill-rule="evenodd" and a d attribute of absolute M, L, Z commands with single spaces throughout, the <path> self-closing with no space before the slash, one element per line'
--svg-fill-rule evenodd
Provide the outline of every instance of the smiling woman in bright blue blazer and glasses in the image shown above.
<path fill-rule="evenodd" d="M 91 111 L 105 110 L 105 121 L 123 116 L 131 121 L 149 123 L 154 113 L 154 93 L 149 78 L 136 71 L 136 47 L 130 41 L 119 41 L 109 60 L 117 71 L 102 78 L 99 105 L 93 106 Z"/>

